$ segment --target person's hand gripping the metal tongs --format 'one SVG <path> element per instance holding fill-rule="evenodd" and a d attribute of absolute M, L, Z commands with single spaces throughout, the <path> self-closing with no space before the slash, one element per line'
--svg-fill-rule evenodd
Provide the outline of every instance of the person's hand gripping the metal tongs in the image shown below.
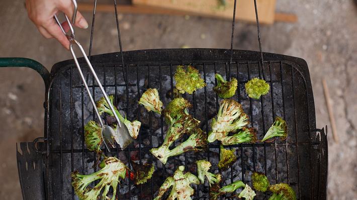
<path fill-rule="evenodd" d="M 63 47 L 69 49 L 69 41 L 53 17 L 58 12 L 63 12 L 72 20 L 74 12 L 72 0 L 26 0 L 26 10 L 30 20 L 45 38 L 55 38 Z M 88 28 L 88 23 L 79 12 L 77 12 L 74 26 L 82 29 Z M 62 23 L 62 27 L 65 32 L 69 30 L 66 21 Z"/>

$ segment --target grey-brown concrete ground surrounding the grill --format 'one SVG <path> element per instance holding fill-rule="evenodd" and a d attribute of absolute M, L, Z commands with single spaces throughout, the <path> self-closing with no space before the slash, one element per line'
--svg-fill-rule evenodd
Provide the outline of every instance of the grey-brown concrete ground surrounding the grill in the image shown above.
<path fill-rule="evenodd" d="M 295 24 L 261 27 L 266 52 L 304 58 L 310 68 L 317 127 L 329 126 L 328 199 L 357 199 L 357 7 L 352 0 L 277 1 L 294 13 Z M 84 13 L 88 22 L 92 15 Z M 93 53 L 118 51 L 113 14 L 98 13 Z M 124 50 L 151 48 L 229 48 L 231 22 L 199 17 L 120 15 Z M 51 66 L 70 58 L 56 41 L 45 40 L 27 18 L 24 2 L 0 1 L 0 57 L 28 57 Z M 236 49 L 257 50 L 255 25 L 237 23 Z M 88 49 L 90 30 L 77 31 Z M 114 42 L 113 42 L 114 41 Z M 332 139 L 321 85 L 325 78 L 337 122 Z M 0 196 L 21 199 L 16 142 L 43 136 L 44 86 L 29 69 L 0 69 Z"/>

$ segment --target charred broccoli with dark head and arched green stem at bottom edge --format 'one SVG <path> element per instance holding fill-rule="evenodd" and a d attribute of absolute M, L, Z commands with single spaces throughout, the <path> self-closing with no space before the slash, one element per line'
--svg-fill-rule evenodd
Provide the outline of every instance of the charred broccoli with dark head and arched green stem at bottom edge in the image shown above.
<path fill-rule="evenodd" d="M 229 185 L 223 186 L 222 188 L 219 187 L 218 184 L 213 185 L 210 188 L 210 199 L 216 200 L 220 195 L 232 193 L 240 187 L 245 187 L 239 194 L 238 197 L 244 197 L 245 199 L 253 199 L 255 196 L 254 190 L 252 190 L 248 184 L 245 184 L 241 180 L 237 180 L 232 182 Z"/>

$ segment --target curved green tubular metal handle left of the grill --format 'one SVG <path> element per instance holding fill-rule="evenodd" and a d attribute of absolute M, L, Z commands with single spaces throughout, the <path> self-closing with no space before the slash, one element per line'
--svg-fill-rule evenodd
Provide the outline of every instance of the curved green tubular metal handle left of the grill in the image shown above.
<path fill-rule="evenodd" d="M 50 73 L 39 62 L 29 58 L 0 58 L 0 67 L 28 67 L 39 73 L 45 82 L 46 91 L 50 85 Z"/>

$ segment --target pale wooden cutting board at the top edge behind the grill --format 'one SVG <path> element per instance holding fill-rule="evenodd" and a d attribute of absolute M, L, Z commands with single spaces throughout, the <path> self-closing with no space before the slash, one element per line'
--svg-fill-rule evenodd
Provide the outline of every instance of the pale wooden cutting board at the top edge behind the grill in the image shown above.
<path fill-rule="evenodd" d="M 212 16 L 232 19 L 234 0 L 225 0 L 221 6 L 219 0 L 132 0 L 135 6 L 147 6 L 177 11 L 185 11 L 200 16 Z M 259 23 L 273 24 L 276 0 L 256 0 Z M 237 0 L 236 19 L 255 22 L 253 0 Z"/>

